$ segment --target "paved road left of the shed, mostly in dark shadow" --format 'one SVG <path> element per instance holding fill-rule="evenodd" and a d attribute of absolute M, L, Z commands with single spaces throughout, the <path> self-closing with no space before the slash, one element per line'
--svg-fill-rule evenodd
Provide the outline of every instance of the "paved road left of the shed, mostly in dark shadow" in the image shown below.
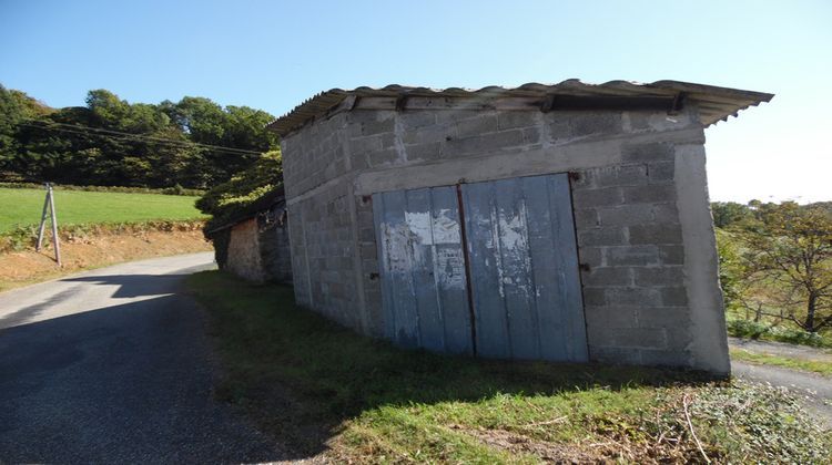
<path fill-rule="evenodd" d="M 211 254 L 119 265 L 0 293 L 0 463 L 285 458 L 211 396 L 199 308 Z"/>

